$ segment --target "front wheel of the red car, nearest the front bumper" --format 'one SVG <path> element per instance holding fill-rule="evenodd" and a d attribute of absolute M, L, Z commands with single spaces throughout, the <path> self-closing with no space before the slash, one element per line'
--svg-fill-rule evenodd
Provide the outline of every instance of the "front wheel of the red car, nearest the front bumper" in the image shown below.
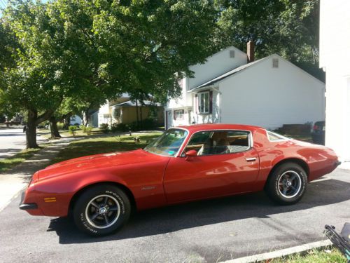
<path fill-rule="evenodd" d="M 97 185 L 83 192 L 73 208 L 73 219 L 81 231 L 92 236 L 111 234 L 129 220 L 130 199 L 113 185 Z"/>

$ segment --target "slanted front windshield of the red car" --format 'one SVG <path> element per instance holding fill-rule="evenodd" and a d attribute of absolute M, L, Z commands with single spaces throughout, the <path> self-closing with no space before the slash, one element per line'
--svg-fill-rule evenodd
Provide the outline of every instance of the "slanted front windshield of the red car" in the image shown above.
<path fill-rule="evenodd" d="M 148 144 L 145 151 L 163 156 L 175 156 L 188 132 L 180 129 L 169 129 L 155 141 Z"/>

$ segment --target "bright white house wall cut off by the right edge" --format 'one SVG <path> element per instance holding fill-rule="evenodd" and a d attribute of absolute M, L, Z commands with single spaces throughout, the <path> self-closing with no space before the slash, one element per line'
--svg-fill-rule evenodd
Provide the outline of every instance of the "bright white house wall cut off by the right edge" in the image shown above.
<path fill-rule="evenodd" d="M 350 162 L 350 1 L 321 0 L 320 67 L 325 70 L 325 145 Z M 349 163 L 350 164 L 350 163 Z"/>

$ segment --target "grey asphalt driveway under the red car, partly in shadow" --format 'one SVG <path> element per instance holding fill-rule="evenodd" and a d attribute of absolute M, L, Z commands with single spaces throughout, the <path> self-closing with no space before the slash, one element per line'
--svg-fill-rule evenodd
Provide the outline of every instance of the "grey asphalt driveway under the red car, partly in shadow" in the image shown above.
<path fill-rule="evenodd" d="M 264 193 L 137 213 L 118 234 L 91 238 L 64 218 L 31 217 L 19 197 L 0 212 L 0 262 L 216 262 L 325 239 L 350 222 L 350 170 L 308 184 L 297 205 Z"/>

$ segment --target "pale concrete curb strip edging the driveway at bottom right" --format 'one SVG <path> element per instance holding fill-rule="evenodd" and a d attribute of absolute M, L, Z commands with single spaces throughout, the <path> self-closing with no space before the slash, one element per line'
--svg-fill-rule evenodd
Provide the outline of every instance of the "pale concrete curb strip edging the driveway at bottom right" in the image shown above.
<path fill-rule="evenodd" d="M 237 258 L 237 259 L 230 259 L 228 261 L 224 261 L 224 262 L 220 262 L 220 263 L 251 263 L 251 262 L 260 262 L 260 261 L 263 261 L 263 260 L 274 259 L 274 258 L 277 258 L 277 257 L 285 257 L 285 256 L 288 256 L 288 255 L 304 252 L 304 251 L 311 250 L 311 249 L 314 249 L 314 248 L 322 248 L 322 247 L 326 247 L 328 245 L 332 245 L 332 242 L 330 242 L 330 240 L 327 239 L 327 240 L 323 240 L 323 241 L 307 243 L 307 244 L 304 244 L 304 245 L 297 245 L 297 246 L 292 247 L 292 248 L 276 250 L 276 251 L 273 251 L 273 252 L 267 252 L 267 253 L 262 253 L 262 254 L 258 254 L 258 255 L 252 255 L 252 256 L 248 256 L 248 257 L 240 257 L 240 258 Z"/>

